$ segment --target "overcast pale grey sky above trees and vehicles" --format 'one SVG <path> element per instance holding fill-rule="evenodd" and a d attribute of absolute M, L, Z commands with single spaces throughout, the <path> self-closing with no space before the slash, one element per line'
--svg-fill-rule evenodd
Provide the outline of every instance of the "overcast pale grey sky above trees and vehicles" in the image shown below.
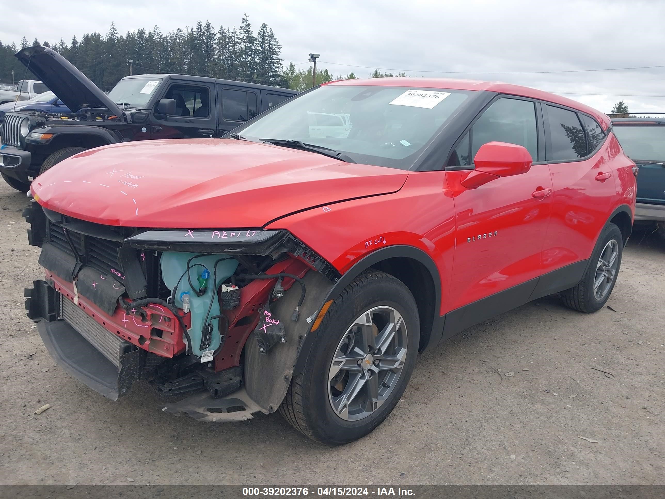
<path fill-rule="evenodd" d="M 665 65 L 665 1 L 473 0 L 160 0 L 5 2 L 0 41 L 69 44 L 86 32 L 120 33 L 158 25 L 162 33 L 196 25 L 237 26 L 243 13 L 256 30 L 267 23 L 285 65 L 320 53 L 333 75 L 374 68 L 410 76 L 499 80 L 567 94 L 609 112 L 620 99 L 631 111 L 665 112 L 665 67 L 629 71 L 489 75 L 487 72 L 579 71 Z M 336 63 L 333 65 L 332 63 Z M 350 67 L 350 65 L 363 66 Z M 474 75 L 417 73 L 481 72 Z M 616 94 L 616 95 L 585 95 Z M 641 95 L 641 96 L 640 96 Z M 660 97 L 647 97 L 647 96 Z"/>

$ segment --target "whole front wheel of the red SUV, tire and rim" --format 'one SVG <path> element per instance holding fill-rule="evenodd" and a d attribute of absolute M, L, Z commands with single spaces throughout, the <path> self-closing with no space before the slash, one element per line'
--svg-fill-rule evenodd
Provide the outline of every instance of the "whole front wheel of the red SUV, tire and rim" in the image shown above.
<path fill-rule="evenodd" d="M 363 317 L 366 327 L 358 325 Z M 369 317 L 372 321 L 367 320 Z M 382 337 L 386 339 L 382 335 L 391 330 L 386 325 L 388 317 L 398 326 L 392 328 L 394 335 L 388 346 L 377 346 Z M 392 275 L 367 271 L 344 288 L 319 328 L 310 334 L 315 335 L 315 341 L 308 351 L 301 352 L 305 366 L 291 380 L 279 411 L 294 428 L 323 444 L 340 445 L 362 438 L 392 412 L 408 385 L 420 341 L 416 301 L 408 287 Z M 370 343 L 372 349 L 364 348 L 363 343 Z M 362 356 L 368 351 L 362 361 L 348 361 L 348 371 L 333 365 L 333 358 L 340 355 Z M 332 377 L 336 369 L 337 375 Z M 366 384 L 356 398 L 346 400 L 346 391 L 359 386 L 352 385 L 352 379 L 363 376 Z M 376 397 L 370 397 L 370 393 Z M 346 400 L 346 404 L 340 400 Z"/>

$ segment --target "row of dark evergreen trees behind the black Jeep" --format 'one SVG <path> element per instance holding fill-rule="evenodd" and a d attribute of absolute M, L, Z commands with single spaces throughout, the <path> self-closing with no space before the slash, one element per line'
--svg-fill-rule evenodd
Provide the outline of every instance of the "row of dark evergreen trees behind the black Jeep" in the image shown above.
<path fill-rule="evenodd" d="M 115 24 L 110 23 L 104 36 L 86 33 L 80 41 L 72 37 L 69 45 L 63 39 L 53 45 L 48 41 L 40 44 L 35 38 L 33 45 L 44 45 L 61 53 L 104 90 L 128 75 L 127 59 L 134 61 L 134 74 L 186 73 L 281 86 L 289 86 L 300 74 L 298 88 L 311 86 L 311 82 L 307 83 L 307 71 L 296 71 L 293 63 L 284 71 L 281 45 L 273 30 L 264 23 L 255 34 L 246 14 L 239 29 L 219 26 L 215 31 L 209 21 L 199 21 L 194 28 L 178 28 L 166 35 L 155 26 L 147 32 L 142 28 L 123 36 Z M 21 49 L 29 46 L 27 38 L 23 37 Z M 0 80 L 11 81 L 12 69 L 15 72 L 25 70 L 13 57 L 16 51 L 14 43 L 0 44 Z M 311 69 L 309 71 L 311 77 Z M 322 71 L 317 74 L 317 83 L 329 78 L 329 73 Z"/>

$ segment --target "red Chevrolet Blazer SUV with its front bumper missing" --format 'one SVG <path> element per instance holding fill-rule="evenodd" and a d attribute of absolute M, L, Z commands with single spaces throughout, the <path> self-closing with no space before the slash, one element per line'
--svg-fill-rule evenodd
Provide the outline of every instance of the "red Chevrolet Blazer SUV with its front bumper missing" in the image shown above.
<path fill-rule="evenodd" d="M 279 410 L 343 444 L 390 414 L 418 352 L 551 293 L 599 310 L 634 166 L 607 116 L 540 90 L 323 84 L 222 139 L 113 144 L 36 178 L 28 317 L 110 399 L 140 381 L 176 415 Z"/>

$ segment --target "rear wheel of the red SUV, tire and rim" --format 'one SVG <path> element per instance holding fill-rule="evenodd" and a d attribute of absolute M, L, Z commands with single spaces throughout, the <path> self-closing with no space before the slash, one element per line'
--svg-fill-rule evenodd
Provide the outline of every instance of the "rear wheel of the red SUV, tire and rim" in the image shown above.
<path fill-rule="evenodd" d="M 616 245 L 616 248 L 614 248 L 614 245 Z M 616 249 L 616 256 L 612 259 L 611 255 L 614 254 L 614 249 Z M 616 284 L 618 272 L 621 267 L 622 254 L 623 237 L 621 231 L 616 225 L 608 223 L 602 232 L 600 232 L 596 247 L 593 249 L 593 253 L 591 253 L 589 265 L 582 280 L 576 286 L 566 289 L 561 293 L 563 303 L 573 310 L 585 313 L 592 313 L 602 309 L 612 294 L 614 284 Z M 600 261 L 601 255 L 604 258 L 603 263 L 611 264 L 602 265 Z M 610 256 L 608 257 L 608 255 Z M 610 259 L 611 262 L 606 262 L 605 259 Z M 604 279 L 600 275 L 603 269 L 607 270 Z M 609 272 L 610 270 L 611 272 Z M 612 274 L 611 281 L 610 273 Z M 597 279 L 600 280 L 600 287 L 602 289 L 595 287 Z"/>

